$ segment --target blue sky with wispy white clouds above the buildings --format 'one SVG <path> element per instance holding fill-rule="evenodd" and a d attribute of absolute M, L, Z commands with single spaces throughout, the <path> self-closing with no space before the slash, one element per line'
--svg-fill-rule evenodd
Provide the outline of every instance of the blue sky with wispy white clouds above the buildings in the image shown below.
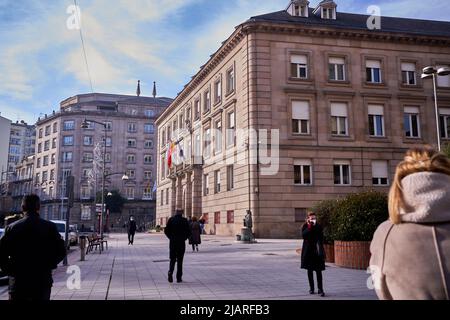
<path fill-rule="evenodd" d="M 315 6 L 319 0 L 310 0 Z M 335 0 L 338 11 L 449 20 L 444 0 Z M 0 112 L 34 123 L 59 102 L 90 92 L 73 0 L 0 0 Z M 289 0 L 78 0 L 95 92 L 175 97 L 249 17 L 283 10 Z"/>

